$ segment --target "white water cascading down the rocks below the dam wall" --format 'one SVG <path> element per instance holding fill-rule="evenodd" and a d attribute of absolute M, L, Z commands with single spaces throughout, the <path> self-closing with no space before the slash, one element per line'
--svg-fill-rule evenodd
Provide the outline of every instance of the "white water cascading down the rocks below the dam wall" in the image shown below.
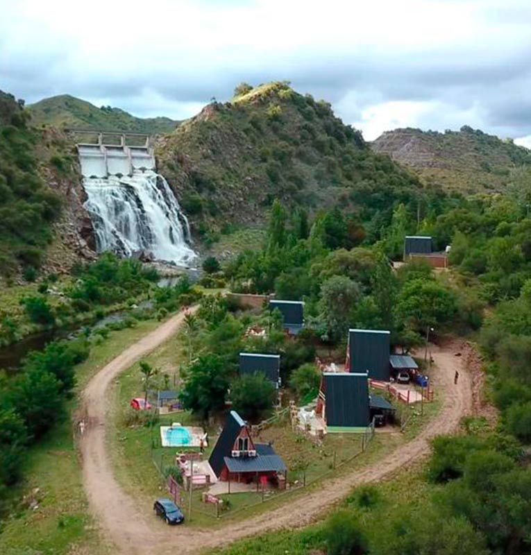
<path fill-rule="evenodd" d="M 135 169 L 124 177 L 85 176 L 83 185 L 98 252 L 111 250 L 129 257 L 144 251 L 175 264 L 187 264 L 196 257 L 187 245 L 188 220 L 158 173 Z"/>

